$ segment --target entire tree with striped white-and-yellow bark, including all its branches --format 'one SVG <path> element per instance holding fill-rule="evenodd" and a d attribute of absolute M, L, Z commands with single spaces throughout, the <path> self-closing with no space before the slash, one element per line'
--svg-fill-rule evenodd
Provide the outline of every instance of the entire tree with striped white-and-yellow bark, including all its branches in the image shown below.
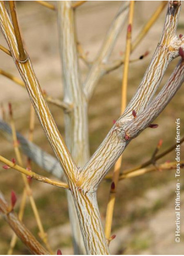
<path fill-rule="evenodd" d="M 22 173 L 25 188 L 22 194 L 21 205 L 24 206 L 25 198 L 28 195 L 46 249 L 23 225 L 21 221 L 23 216 L 22 208 L 20 209 L 19 216 L 15 214 L 16 195 L 14 192 L 11 193 L 11 206 L 8 205 L 3 194 L 0 194 L 0 213 L 15 231 L 16 235 L 26 244 L 31 253 L 53 254 L 31 194 L 29 181 L 36 179 L 65 188 L 67 190 L 75 254 L 109 254 L 108 244 L 114 238 L 111 234 L 111 227 L 118 181 L 157 169 L 169 170 L 176 167 L 176 162 L 171 162 L 147 168 L 149 164 L 162 158 L 175 148 L 175 146 L 172 146 L 162 154 L 157 154 L 162 144 L 162 141 L 160 141 L 151 160 L 120 174 L 122 153 L 129 142 L 136 138 L 144 129 L 157 127 L 152 122 L 168 105 L 184 80 L 184 37 L 182 35 L 176 36 L 181 2 L 162 2 L 134 41 L 131 39 L 134 1 L 122 2 L 117 15 L 109 27 L 102 47 L 92 63 L 88 62 L 80 43 L 77 41 L 75 30 L 75 9 L 86 1 L 75 3 L 71 1 L 57 1 L 57 7 L 44 1 L 36 2 L 57 11 L 60 59 L 63 66 L 64 98 L 63 101 L 60 101 L 60 99 L 52 98 L 42 91 L 28 52 L 23 46 L 17 21 L 15 1 L 8 2 L 9 11 L 5 2 L 0 1 L 0 26 L 9 48 L 1 46 L 1 50 L 12 57 L 22 77 L 22 81 L 3 70 L 0 73 L 26 87 L 34 107 L 34 110 L 33 108 L 31 110 L 30 138 L 27 140 L 16 132 L 13 110 L 11 109 L 11 104 L 9 105 L 11 128 L 5 121 L 1 120 L 0 129 L 5 133 L 12 133 L 16 158 L 9 161 L 0 156 L 0 161 L 5 164 L 4 169 L 13 168 Z M 167 13 L 161 40 L 156 47 L 150 65 L 136 93 L 127 105 L 130 54 L 136 49 L 166 5 Z M 117 37 L 127 19 L 125 54 L 122 55 L 120 60 L 109 63 L 108 60 L 114 49 Z M 147 52 L 140 59 L 146 54 Z M 162 87 L 162 90 L 155 96 L 169 63 L 179 55 L 180 58 L 176 68 L 170 75 L 167 83 Z M 84 82 L 81 79 L 79 58 L 89 66 L 89 72 Z M 100 78 L 122 64 L 124 64 L 124 74 L 122 79 L 121 116 L 115 121 L 99 148 L 90 157 L 88 135 L 88 105 L 90 98 Z M 65 141 L 58 131 L 53 116 L 48 109 L 47 102 L 55 104 L 64 110 Z M 31 142 L 34 111 L 38 116 L 56 158 Z M 23 168 L 18 141 L 22 151 L 29 159 L 46 171 L 54 174 L 59 180 L 49 179 L 33 172 L 30 168 Z M 180 140 L 181 142 L 183 142 L 183 139 Z M 114 164 L 113 176 L 107 176 L 108 171 Z M 101 222 L 96 200 L 96 191 L 103 179 L 112 180 L 105 230 Z M 16 235 L 11 240 L 9 254 L 12 253 L 15 246 Z M 58 250 L 57 254 L 61 254 L 60 250 Z"/>

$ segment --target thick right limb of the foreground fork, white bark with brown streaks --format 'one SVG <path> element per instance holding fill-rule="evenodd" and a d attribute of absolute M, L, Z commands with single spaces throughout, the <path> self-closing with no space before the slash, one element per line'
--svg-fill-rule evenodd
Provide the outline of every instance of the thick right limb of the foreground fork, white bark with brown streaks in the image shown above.
<path fill-rule="evenodd" d="M 168 83 L 163 87 L 163 90 L 151 102 L 168 65 L 168 59 L 174 59 L 179 55 L 178 44 L 182 43 L 182 40 L 176 40 L 175 36 L 179 10 L 180 2 L 169 2 L 166 23 L 161 39 L 162 44 L 167 42 L 165 50 L 163 50 L 163 46 L 158 46 L 156 54 L 154 54 L 151 64 L 144 75 L 143 82 L 126 108 L 127 111 L 125 110 L 125 113 L 118 119 L 100 147 L 92 155 L 90 161 L 84 166 L 80 174 L 80 182 L 83 184 L 82 188 L 84 191 L 94 191 L 97 189 L 104 175 L 125 150 L 130 140 L 137 137 L 143 129 L 150 125 L 181 86 L 183 82 L 183 60 L 179 62 L 177 68 L 170 76 Z M 169 36 L 171 37 L 170 39 Z M 172 51 L 168 50 L 170 40 L 172 43 L 173 41 L 178 42 L 177 47 Z M 146 106 L 148 108 L 145 108 Z M 140 115 L 134 118 L 132 110 L 136 110 L 136 112 L 138 110 L 137 113 L 140 113 Z"/>

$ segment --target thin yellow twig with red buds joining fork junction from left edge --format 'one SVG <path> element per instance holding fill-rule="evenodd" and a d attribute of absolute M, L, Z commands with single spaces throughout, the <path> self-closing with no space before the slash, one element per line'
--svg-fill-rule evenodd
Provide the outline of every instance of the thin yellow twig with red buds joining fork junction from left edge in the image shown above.
<path fill-rule="evenodd" d="M 21 172 L 21 173 L 31 177 L 34 180 L 48 183 L 48 184 L 51 184 L 51 185 L 54 185 L 57 187 L 69 188 L 68 184 L 66 184 L 64 182 L 49 179 L 45 176 L 39 175 L 35 172 L 32 172 L 31 170 L 24 169 L 21 166 L 19 166 L 18 164 L 15 164 L 15 163 L 9 161 L 8 159 L 2 157 L 2 155 L 0 155 L 0 161 L 6 164 L 6 165 L 4 165 L 4 169 L 13 168 L 13 169 L 17 170 L 18 172 Z"/>

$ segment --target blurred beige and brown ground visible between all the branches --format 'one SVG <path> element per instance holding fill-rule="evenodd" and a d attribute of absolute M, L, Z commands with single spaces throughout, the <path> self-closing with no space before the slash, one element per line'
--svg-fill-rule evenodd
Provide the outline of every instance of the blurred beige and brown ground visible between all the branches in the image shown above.
<path fill-rule="evenodd" d="M 48 1 L 49 2 L 49 1 Z M 136 38 L 146 21 L 151 17 L 161 1 L 137 1 L 134 12 L 133 34 Z M 38 76 L 41 87 L 53 97 L 63 97 L 62 67 L 59 58 L 57 15 L 53 10 L 47 9 L 35 1 L 18 1 L 17 14 L 22 37 L 32 60 L 34 71 Z M 52 4 L 57 4 L 52 1 Z M 111 21 L 116 15 L 120 1 L 88 1 L 76 10 L 77 32 L 84 51 L 88 52 L 89 60 L 96 57 Z M 136 92 L 143 74 L 151 60 L 153 52 L 162 35 L 166 8 L 150 29 L 148 35 L 140 43 L 131 59 L 139 58 L 146 50 L 150 54 L 135 63 L 130 64 L 128 82 L 128 101 Z M 111 60 L 120 58 L 125 51 L 126 27 L 117 40 Z M 184 9 L 181 8 L 177 35 L 184 31 Z M 6 46 L 0 34 L 0 43 Z M 167 81 L 176 66 L 174 60 L 168 67 L 162 81 Z M 87 66 L 80 62 L 82 75 L 88 72 Z M 11 58 L 0 51 L 0 68 L 19 77 L 18 71 Z M 120 115 L 122 66 L 105 75 L 97 85 L 95 93 L 89 104 L 89 134 L 90 149 L 93 153 L 113 125 L 113 120 Z M 21 86 L 0 76 L 0 102 L 3 103 L 8 117 L 8 102 L 11 102 L 16 120 L 16 128 L 23 136 L 28 137 L 30 101 L 27 91 Z M 166 107 L 160 117 L 154 121 L 157 129 L 146 129 L 134 139 L 123 154 L 122 170 L 131 168 L 150 159 L 156 145 L 163 139 L 161 152 L 175 143 L 176 118 L 181 119 L 181 136 L 184 127 L 184 87 L 182 86 L 174 99 Z M 64 136 L 63 112 L 58 107 L 49 105 L 60 132 Z M 45 151 L 53 154 L 50 144 L 46 141 L 44 132 L 35 120 L 34 143 Z M 0 154 L 7 159 L 15 157 L 13 144 L 0 135 Z M 181 147 L 181 159 L 183 146 Z M 184 158 L 184 157 L 183 157 Z M 24 157 L 26 162 L 26 157 Z M 159 163 L 167 160 L 175 161 L 175 151 L 166 155 Z M 0 187 L 10 202 L 10 192 L 17 193 L 18 202 L 16 212 L 21 200 L 23 189 L 20 174 L 13 170 L 4 170 L 0 163 Z M 32 170 L 50 176 L 39 166 L 33 164 Z M 181 169 L 182 172 L 182 169 Z M 108 202 L 110 183 L 103 181 L 98 191 L 99 206 L 102 220 L 105 221 L 105 212 Z M 72 254 L 71 230 L 67 212 L 65 191 L 57 187 L 32 181 L 33 195 L 48 233 L 48 240 L 54 251 L 61 249 L 63 254 Z M 111 242 L 113 254 L 183 254 L 184 221 L 181 210 L 181 241 L 175 242 L 175 171 L 162 171 L 145 174 L 132 179 L 119 182 L 114 212 L 112 233 L 116 238 Z M 181 208 L 184 203 L 184 181 L 181 184 Z M 38 227 L 29 202 L 23 217 L 26 226 L 38 237 Z M 0 217 L 0 253 L 6 254 L 13 231 Z M 18 240 L 14 250 L 15 254 L 29 254 L 27 248 Z"/>

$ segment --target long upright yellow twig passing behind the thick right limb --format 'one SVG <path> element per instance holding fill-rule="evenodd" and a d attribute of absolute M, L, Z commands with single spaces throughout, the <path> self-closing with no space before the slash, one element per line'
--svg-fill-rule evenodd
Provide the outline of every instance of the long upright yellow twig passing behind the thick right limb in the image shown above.
<path fill-rule="evenodd" d="M 122 77 L 121 113 L 124 112 L 126 108 L 126 102 L 127 102 L 127 83 L 128 83 L 128 70 L 129 70 L 130 51 L 131 51 L 131 31 L 132 31 L 132 23 L 133 23 L 133 12 L 134 12 L 134 1 L 130 1 L 125 60 L 124 60 L 125 61 L 124 74 Z M 114 205 L 115 205 L 115 199 L 116 199 L 116 188 L 119 180 L 119 170 L 121 166 L 121 161 L 122 161 L 122 155 L 119 157 L 119 159 L 115 163 L 111 191 L 109 194 L 109 201 L 107 204 L 106 220 L 105 220 L 105 236 L 108 241 L 110 241 L 109 239 L 111 237 L 113 211 L 114 211 Z"/>

